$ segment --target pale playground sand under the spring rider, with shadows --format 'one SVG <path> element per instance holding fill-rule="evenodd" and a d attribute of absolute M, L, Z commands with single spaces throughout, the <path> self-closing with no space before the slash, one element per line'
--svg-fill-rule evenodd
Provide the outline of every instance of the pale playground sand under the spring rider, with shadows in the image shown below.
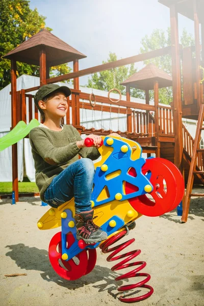
<path fill-rule="evenodd" d="M 203 189 L 194 191 L 203 192 Z M 108 263 L 107 254 L 97 249 L 96 266 L 90 274 L 74 282 L 60 278 L 50 266 L 47 253 L 49 241 L 59 228 L 39 231 L 36 226 L 48 207 L 40 206 L 39 197 L 20 198 L 14 206 L 10 199 L 0 201 L 1 306 L 123 304 L 116 290 L 122 281 L 116 283 L 114 278 L 127 270 L 112 272 L 113 263 Z M 136 241 L 126 250 L 141 249 L 137 260 L 147 262 L 142 272 L 151 275 L 148 284 L 155 290 L 137 305 L 204 305 L 203 204 L 204 198 L 192 198 L 189 219 L 184 224 L 175 211 L 137 220 L 136 228 L 128 236 Z M 5 276 L 13 273 L 27 275 Z M 136 278 L 131 278 L 123 284 L 135 281 Z"/>

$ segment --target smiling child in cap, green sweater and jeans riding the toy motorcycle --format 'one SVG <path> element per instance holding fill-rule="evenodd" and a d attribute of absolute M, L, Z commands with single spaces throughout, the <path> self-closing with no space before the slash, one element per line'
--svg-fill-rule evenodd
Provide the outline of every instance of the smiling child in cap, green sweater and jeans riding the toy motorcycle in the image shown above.
<path fill-rule="evenodd" d="M 95 147 L 87 148 L 72 125 L 60 124 L 67 113 L 70 94 L 66 86 L 48 84 L 40 87 L 34 97 L 43 121 L 29 135 L 36 184 L 40 198 L 54 208 L 74 197 L 77 239 L 95 243 L 107 239 L 107 233 L 93 223 L 90 202 L 94 176 L 92 160 L 100 156 L 97 148 L 101 137 L 89 135 Z M 78 154 L 82 159 L 78 159 Z"/>

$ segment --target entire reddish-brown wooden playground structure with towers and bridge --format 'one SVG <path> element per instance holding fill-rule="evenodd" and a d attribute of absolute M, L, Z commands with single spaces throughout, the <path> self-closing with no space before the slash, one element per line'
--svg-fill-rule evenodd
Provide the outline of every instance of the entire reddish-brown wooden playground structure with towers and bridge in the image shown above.
<path fill-rule="evenodd" d="M 200 134 L 203 130 L 203 82 L 204 74 L 204 11 L 202 0 L 160 0 L 170 9 L 171 46 L 117 60 L 99 66 L 79 70 L 79 60 L 86 56 L 78 52 L 47 30 L 43 29 L 29 40 L 13 49 L 4 58 L 11 60 L 11 97 L 12 129 L 20 121 L 33 119 L 33 95 L 31 91 L 40 86 L 73 79 L 72 94 L 68 97 L 66 123 L 72 124 L 81 134 L 108 135 L 110 130 L 85 129 L 81 125 L 80 109 L 100 111 L 101 113 L 123 114 L 126 117 L 126 131 L 114 131 L 122 137 L 130 138 L 142 146 L 147 156 L 154 153 L 173 162 L 183 173 L 187 192 L 183 200 L 182 221 L 186 222 L 192 194 L 193 182 L 204 184 L 204 149 L 199 148 Z M 183 48 L 179 44 L 178 13 L 194 21 L 195 46 Z M 202 18 L 202 19 L 201 19 Z M 201 23 L 201 33 L 199 24 Z M 200 45 L 201 40 L 201 45 Z M 200 57 L 201 51 L 201 57 Z M 142 70 L 124 81 L 126 100 L 91 95 L 79 89 L 79 78 L 103 70 L 114 69 L 160 57 L 171 55 L 172 78 L 154 65 L 147 65 Z M 38 65 L 40 67 L 40 86 L 16 90 L 16 61 Z M 60 77 L 49 78 L 49 67 L 73 62 L 73 72 Z M 182 62 L 182 70 L 180 63 Z M 181 75 L 181 71 L 182 74 Z M 173 99 L 170 106 L 159 105 L 159 88 L 173 88 Z M 145 91 L 146 104 L 131 101 L 130 88 Z M 149 90 L 154 89 L 154 105 L 149 104 Z M 28 101 L 28 103 L 26 103 Z M 26 105 L 29 110 L 26 109 Z M 29 118 L 27 118 L 27 111 Z M 35 108 L 34 117 L 38 119 Z M 182 123 L 182 118 L 198 120 L 196 137 L 193 139 Z M 119 129 L 118 129 L 119 130 Z M 12 146 L 13 191 L 18 201 L 17 144 Z M 204 194 L 196 194 L 204 196 Z"/>

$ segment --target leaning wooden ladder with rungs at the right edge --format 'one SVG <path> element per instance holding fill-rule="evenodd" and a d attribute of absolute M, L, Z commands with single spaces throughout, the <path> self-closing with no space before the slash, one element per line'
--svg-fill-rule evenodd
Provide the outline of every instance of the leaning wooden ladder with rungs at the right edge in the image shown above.
<path fill-rule="evenodd" d="M 191 196 L 203 196 L 204 197 L 204 193 L 195 193 L 195 194 L 192 193 L 194 174 L 198 174 L 201 177 L 203 177 L 204 175 L 204 149 L 199 148 L 200 139 L 201 139 L 201 131 L 204 130 L 204 127 L 202 127 L 203 120 L 204 120 L 204 104 L 201 104 L 200 109 L 199 109 L 199 115 L 198 115 L 197 129 L 196 129 L 196 135 L 195 135 L 195 140 L 194 140 L 187 189 L 186 189 L 185 199 L 183 203 L 182 222 L 187 222 Z M 202 161 L 202 170 L 198 170 L 196 168 L 198 154 L 199 154 L 199 159 L 201 159 Z"/>

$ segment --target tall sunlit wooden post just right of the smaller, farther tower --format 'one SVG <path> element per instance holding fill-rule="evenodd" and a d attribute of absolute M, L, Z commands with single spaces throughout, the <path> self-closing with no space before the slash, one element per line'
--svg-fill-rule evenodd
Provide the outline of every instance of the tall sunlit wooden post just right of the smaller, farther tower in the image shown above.
<path fill-rule="evenodd" d="M 182 94 L 181 94 L 181 68 L 179 54 L 179 31 L 178 14 L 175 5 L 170 6 L 171 23 L 171 62 L 173 83 L 173 118 L 174 118 L 174 161 L 175 165 L 182 171 L 183 159 L 183 134 L 182 134 Z"/>

